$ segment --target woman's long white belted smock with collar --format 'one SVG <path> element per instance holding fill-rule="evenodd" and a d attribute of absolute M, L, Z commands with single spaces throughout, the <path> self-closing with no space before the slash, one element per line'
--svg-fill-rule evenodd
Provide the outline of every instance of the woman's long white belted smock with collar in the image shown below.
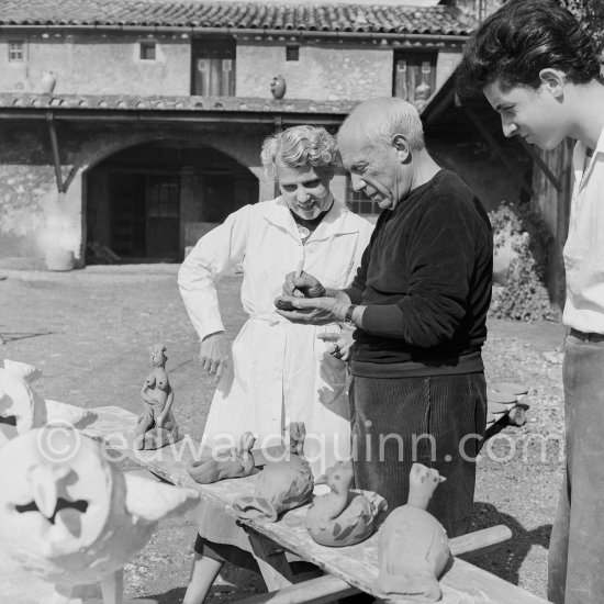
<path fill-rule="evenodd" d="M 224 329 L 216 282 L 239 264 L 249 315 L 214 394 L 204 445 L 237 443 L 248 430 L 255 447 L 277 445 L 290 422 L 304 422 L 304 454 L 315 476 L 349 455 L 347 366 L 316 337 L 342 327 L 292 323 L 276 313 L 275 299 L 286 275 L 299 267 L 326 288 L 349 286 L 372 227 L 334 201 L 303 245 L 287 203 L 277 198 L 234 212 L 190 251 L 178 284 L 200 339 Z"/>

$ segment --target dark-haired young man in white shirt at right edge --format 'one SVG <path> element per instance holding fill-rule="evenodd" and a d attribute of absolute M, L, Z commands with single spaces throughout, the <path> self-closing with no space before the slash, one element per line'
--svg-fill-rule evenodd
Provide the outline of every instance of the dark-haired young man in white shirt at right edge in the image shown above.
<path fill-rule="evenodd" d="M 593 42 L 553 0 L 512 0 L 472 35 L 460 96 L 481 91 L 505 136 L 577 139 L 564 246 L 567 467 L 549 549 L 549 599 L 604 602 L 604 82 Z"/>

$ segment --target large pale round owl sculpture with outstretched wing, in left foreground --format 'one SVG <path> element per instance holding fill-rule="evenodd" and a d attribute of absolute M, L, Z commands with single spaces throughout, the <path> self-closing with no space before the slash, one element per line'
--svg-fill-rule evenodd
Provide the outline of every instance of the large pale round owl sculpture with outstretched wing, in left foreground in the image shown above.
<path fill-rule="evenodd" d="M 121 602 L 116 573 L 158 521 L 199 502 L 197 491 L 119 472 L 96 441 L 64 426 L 13 438 L 0 468 L 0 547 L 64 597 L 100 582 L 105 604 Z"/>

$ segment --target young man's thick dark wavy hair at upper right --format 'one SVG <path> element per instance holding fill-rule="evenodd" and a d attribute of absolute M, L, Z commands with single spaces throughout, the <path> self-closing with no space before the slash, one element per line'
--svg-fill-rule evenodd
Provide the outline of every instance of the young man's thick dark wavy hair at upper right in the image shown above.
<path fill-rule="evenodd" d="M 539 72 L 556 67 L 571 83 L 600 78 L 592 38 L 557 0 L 511 0 L 473 33 L 457 70 L 460 97 L 480 96 L 499 81 L 538 88 Z"/>

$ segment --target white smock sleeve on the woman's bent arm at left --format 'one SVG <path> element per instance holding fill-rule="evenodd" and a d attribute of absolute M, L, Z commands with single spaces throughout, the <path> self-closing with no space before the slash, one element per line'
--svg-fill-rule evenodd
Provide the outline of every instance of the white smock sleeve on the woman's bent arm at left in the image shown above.
<path fill-rule="evenodd" d="M 201 237 L 178 271 L 180 295 L 200 340 L 224 331 L 216 283 L 243 261 L 250 212 L 245 205 Z"/>

